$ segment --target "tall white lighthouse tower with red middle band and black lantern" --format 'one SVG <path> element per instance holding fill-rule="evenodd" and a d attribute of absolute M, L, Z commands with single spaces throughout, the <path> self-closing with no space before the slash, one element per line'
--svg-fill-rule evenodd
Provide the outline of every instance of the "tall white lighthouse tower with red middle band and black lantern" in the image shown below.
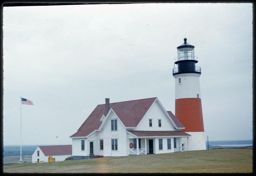
<path fill-rule="evenodd" d="M 201 67 L 196 66 L 198 60 L 194 56 L 194 48 L 186 38 L 177 47 L 178 57 L 172 69 L 175 78 L 175 116 L 185 126 L 182 131 L 191 135 L 189 140 L 182 140 L 182 144 L 188 146 L 188 150 L 206 150 L 199 84 Z"/>

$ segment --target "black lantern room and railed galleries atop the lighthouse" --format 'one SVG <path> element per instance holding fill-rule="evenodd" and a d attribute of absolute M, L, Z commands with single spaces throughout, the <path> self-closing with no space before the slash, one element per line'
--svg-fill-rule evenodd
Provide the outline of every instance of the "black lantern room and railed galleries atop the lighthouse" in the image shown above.
<path fill-rule="evenodd" d="M 194 48 L 195 46 L 187 43 L 187 38 L 184 38 L 184 43 L 177 47 L 178 57 L 175 58 L 174 64 L 177 64 L 178 67 L 172 69 L 172 75 L 181 73 L 201 74 L 201 68 L 195 65 L 198 60 L 194 55 Z"/>

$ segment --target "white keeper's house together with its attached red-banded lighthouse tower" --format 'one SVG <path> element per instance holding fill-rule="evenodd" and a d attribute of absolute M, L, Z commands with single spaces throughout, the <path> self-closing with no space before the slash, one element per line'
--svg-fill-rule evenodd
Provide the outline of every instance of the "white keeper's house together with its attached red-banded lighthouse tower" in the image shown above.
<path fill-rule="evenodd" d="M 175 115 L 157 97 L 98 105 L 72 138 L 73 159 L 206 150 L 194 46 L 177 47 Z"/>

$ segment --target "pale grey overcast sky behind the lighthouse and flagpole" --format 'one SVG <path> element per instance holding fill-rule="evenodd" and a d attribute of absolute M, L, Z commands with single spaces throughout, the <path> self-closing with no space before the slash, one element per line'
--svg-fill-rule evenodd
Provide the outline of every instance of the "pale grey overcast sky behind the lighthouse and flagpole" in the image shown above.
<path fill-rule="evenodd" d="M 186 36 L 202 68 L 209 140 L 252 139 L 252 4 L 4 7 L 4 144 L 71 144 L 105 98 L 158 97 L 175 113 L 172 76 Z"/>

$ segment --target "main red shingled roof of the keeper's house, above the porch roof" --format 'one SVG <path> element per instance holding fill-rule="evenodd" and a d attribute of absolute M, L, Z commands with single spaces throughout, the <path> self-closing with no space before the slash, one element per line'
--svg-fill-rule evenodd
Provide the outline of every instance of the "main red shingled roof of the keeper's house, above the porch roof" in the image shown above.
<path fill-rule="evenodd" d="M 146 114 L 152 103 L 156 100 L 156 97 L 146 98 L 140 100 L 130 100 L 125 102 L 109 103 L 109 108 L 113 109 L 116 115 L 124 123 L 125 127 L 137 127 L 140 120 Z M 170 115 L 169 112 L 167 111 Z M 94 130 L 100 128 L 102 121 L 100 121 L 102 115 L 105 115 L 105 104 L 98 105 L 84 123 L 80 126 L 75 134 L 70 137 L 86 137 Z M 177 127 L 184 127 L 180 121 L 171 113 L 171 118 Z"/>

